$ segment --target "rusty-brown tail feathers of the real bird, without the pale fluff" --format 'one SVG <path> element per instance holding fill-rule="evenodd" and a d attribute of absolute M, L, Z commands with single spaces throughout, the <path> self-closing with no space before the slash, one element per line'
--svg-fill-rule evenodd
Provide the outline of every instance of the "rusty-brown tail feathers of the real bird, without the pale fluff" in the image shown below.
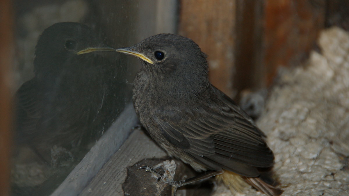
<path fill-rule="evenodd" d="M 247 178 L 244 177 L 244 180 L 248 183 L 251 184 L 254 188 L 258 189 L 262 193 L 265 193 L 268 196 L 278 196 L 281 195 L 283 190 L 280 188 L 276 188 L 270 184 L 267 184 L 260 178 Z"/>

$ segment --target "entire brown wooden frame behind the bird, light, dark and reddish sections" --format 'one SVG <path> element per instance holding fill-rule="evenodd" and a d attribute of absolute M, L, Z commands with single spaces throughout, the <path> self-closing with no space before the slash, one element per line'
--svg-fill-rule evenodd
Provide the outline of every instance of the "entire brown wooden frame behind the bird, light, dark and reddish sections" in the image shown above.
<path fill-rule="evenodd" d="M 325 0 L 181 0 L 179 34 L 208 54 L 210 81 L 233 96 L 299 65 L 324 27 Z M 334 4 L 334 3 L 332 3 Z"/>

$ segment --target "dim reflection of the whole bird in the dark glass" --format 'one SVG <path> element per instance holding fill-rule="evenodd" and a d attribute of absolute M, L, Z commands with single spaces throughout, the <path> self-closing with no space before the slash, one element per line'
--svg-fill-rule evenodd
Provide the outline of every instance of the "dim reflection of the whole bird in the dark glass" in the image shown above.
<path fill-rule="evenodd" d="M 63 22 L 43 31 L 35 50 L 35 77 L 16 93 L 18 144 L 29 144 L 47 160 L 54 145 L 80 146 L 108 123 L 102 115 L 111 104 L 108 91 L 116 71 L 95 51 L 115 50 L 86 25 Z"/>

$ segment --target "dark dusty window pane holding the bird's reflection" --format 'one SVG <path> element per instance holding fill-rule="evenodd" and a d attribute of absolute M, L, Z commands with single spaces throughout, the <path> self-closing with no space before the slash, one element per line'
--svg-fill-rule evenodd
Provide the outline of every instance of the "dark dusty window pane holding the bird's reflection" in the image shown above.
<path fill-rule="evenodd" d="M 14 9 L 12 195 L 49 195 L 131 101 L 138 67 L 90 49 L 137 42 L 138 1 L 18 0 Z M 52 27 L 66 21 L 80 24 Z"/>

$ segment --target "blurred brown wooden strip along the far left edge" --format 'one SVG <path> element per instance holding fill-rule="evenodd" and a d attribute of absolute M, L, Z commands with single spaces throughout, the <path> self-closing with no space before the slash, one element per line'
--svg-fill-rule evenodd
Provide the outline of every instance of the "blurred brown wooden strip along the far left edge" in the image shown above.
<path fill-rule="evenodd" d="M 13 66 L 14 40 L 12 1 L 0 1 L 0 195 L 9 195 L 11 149 L 11 91 L 10 67 Z"/>

